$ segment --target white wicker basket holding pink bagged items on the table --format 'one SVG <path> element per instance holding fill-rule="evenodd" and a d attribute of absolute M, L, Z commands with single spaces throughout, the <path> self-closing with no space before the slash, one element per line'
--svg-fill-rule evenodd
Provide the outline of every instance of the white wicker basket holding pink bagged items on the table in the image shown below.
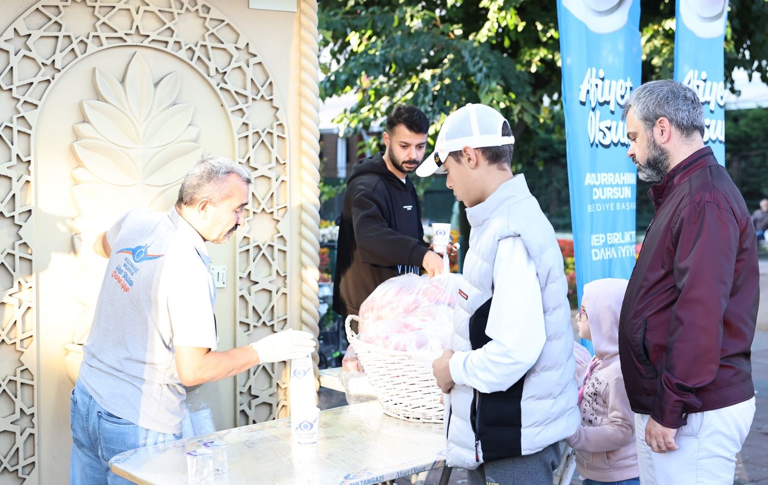
<path fill-rule="evenodd" d="M 407 421 L 442 423 L 442 391 L 425 363 L 434 351 L 396 351 L 361 341 L 349 323 L 362 318 L 349 315 L 344 326 L 368 379 L 379 394 L 386 414 Z"/>

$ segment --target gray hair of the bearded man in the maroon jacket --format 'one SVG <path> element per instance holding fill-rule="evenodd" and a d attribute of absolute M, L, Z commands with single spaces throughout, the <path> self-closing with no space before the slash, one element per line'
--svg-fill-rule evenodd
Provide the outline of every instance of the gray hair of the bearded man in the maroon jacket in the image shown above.
<path fill-rule="evenodd" d="M 653 130 L 654 124 L 660 117 L 670 121 L 683 137 L 694 134 L 704 136 L 704 111 L 696 91 L 678 81 L 663 79 L 642 84 L 632 91 L 621 119 L 627 119 L 629 108 L 640 120 L 647 131 Z"/>

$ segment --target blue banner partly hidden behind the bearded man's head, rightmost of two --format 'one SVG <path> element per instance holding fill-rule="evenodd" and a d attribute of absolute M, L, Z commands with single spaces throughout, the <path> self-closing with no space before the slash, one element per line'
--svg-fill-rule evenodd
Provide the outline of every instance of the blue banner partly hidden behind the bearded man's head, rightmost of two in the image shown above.
<path fill-rule="evenodd" d="M 704 109 L 704 144 L 725 165 L 725 22 L 728 0 L 677 0 L 674 78 L 692 87 Z"/>

